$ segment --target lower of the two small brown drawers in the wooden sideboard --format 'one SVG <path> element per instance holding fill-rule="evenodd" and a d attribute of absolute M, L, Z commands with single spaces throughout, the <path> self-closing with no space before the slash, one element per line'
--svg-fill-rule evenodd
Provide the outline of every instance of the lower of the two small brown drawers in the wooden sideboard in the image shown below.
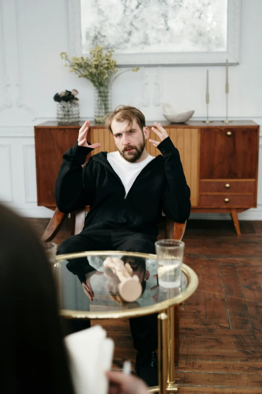
<path fill-rule="evenodd" d="M 217 208 L 251 208 L 254 207 L 254 196 L 240 195 L 202 195 L 200 196 L 200 205 Z"/>

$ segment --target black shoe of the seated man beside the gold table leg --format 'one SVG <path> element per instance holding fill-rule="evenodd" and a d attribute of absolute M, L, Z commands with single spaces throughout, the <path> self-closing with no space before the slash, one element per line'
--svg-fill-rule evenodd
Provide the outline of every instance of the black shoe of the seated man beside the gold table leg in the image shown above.
<path fill-rule="evenodd" d="M 135 371 L 149 387 L 158 385 L 158 356 L 156 352 L 139 352 Z"/>

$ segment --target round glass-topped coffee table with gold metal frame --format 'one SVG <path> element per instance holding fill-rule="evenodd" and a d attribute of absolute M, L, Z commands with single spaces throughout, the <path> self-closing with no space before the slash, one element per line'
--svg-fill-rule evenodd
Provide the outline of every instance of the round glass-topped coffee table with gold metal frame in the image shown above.
<path fill-rule="evenodd" d="M 134 302 L 124 301 L 117 291 L 117 277 L 103 266 L 106 257 L 117 257 L 133 268 L 142 284 L 142 295 Z M 60 315 L 68 319 L 135 318 L 158 312 L 159 386 L 150 392 L 172 392 L 175 363 L 179 355 L 179 304 L 198 286 L 196 273 L 182 265 L 178 288 L 158 285 L 157 256 L 146 253 L 99 251 L 56 257 L 54 275 L 58 283 Z M 119 283 L 119 281 L 118 281 Z"/>

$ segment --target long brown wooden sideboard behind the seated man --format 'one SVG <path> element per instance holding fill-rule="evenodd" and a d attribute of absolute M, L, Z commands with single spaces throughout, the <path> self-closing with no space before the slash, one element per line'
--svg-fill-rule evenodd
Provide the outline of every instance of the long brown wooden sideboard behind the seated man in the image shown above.
<path fill-rule="evenodd" d="M 54 189 L 62 155 L 75 144 L 82 124 L 35 126 L 38 205 L 56 207 Z M 180 152 L 191 189 L 191 212 L 230 213 L 240 234 L 237 213 L 256 207 L 259 126 L 252 121 L 161 124 Z M 153 122 L 147 125 L 150 128 Z M 150 138 L 155 139 L 152 130 Z M 101 124 L 91 122 L 88 141 L 101 143 L 91 154 L 115 150 L 111 133 Z M 150 154 L 159 154 L 148 140 L 146 143 Z"/>

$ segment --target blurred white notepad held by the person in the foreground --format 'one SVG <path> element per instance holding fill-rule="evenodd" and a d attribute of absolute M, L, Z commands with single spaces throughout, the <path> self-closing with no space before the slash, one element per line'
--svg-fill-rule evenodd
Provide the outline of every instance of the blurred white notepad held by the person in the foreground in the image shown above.
<path fill-rule="evenodd" d="M 111 369 L 114 343 L 101 326 L 70 334 L 64 339 L 76 394 L 107 394 L 105 371 Z"/>

